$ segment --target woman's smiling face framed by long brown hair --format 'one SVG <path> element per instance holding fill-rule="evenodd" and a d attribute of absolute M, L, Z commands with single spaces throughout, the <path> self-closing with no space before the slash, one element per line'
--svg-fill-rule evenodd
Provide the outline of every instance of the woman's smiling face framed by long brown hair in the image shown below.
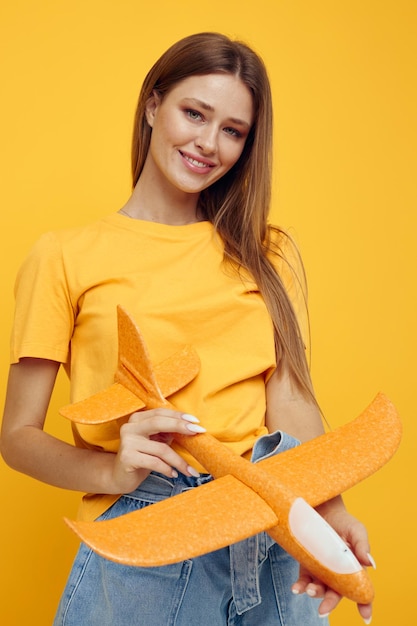
<path fill-rule="evenodd" d="M 198 197 L 239 159 L 253 116 L 250 91 L 231 74 L 190 76 L 162 99 L 155 93 L 146 109 L 152 135 L 143 174 Z"/>

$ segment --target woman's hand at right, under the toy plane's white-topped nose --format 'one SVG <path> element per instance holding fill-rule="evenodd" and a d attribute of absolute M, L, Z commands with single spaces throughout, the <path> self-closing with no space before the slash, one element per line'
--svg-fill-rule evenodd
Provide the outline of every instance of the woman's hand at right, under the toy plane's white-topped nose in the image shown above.
<path fill-rule="evenodd" d="M 369 553 L 366 528 L 346 511 L 341 498 L 324 503 L 317 507 L 317 511 L 335 529 L 363 566 L 375 567 Z M 314 598 L 323 598 L 319 606 L 319 614 L 323 617 L 333 611 L 342 599 L 339 593 L 317 580 L 302 565 L 300 565 L 300 575 L 297 582 L 293 584 L 292 591 L 293 593 L 307 593 Z M 358 610 L 365 624 L 370 624 L 372 604 L 358 604 Z"/>

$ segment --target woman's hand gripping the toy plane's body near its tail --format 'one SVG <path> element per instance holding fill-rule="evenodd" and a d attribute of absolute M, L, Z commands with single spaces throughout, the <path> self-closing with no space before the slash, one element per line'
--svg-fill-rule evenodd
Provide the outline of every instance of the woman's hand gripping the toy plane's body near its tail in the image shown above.
<path fill-rule="evenodd" d="M 112 471 L 114 493 L 129 493 L 159 472 L 169 478 L 198 476 L 198 472 L 171 448 L 174 433 L 193 436 L 205 432 L 193 415 L 160 408 L 133 413 L 120 429 L 120 447 Z"/>

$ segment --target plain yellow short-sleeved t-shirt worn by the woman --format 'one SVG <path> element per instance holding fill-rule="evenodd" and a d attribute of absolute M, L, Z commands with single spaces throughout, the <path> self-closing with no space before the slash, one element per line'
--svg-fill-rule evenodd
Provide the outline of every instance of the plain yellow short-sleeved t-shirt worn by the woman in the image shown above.
<path fill-rule="evenodd" d="M 135 319 L 153 362 L 193 345 L 201 371 L 170 402 L 248 455 L 266 432 L 273 329 L 254 282 L 224 265 L 212 224 L 170 226 L 116 213 L 42 236 L 17 276 L 12 362 L 63 363 L 71 402 L 105 389 L 117 365 L 118 304 Z M 75 426 L 74 439 L 80 447 L 116 451 L 119 424 Z M 84 497 L 81 517 L 94 519 L 114 500 Z"/>

